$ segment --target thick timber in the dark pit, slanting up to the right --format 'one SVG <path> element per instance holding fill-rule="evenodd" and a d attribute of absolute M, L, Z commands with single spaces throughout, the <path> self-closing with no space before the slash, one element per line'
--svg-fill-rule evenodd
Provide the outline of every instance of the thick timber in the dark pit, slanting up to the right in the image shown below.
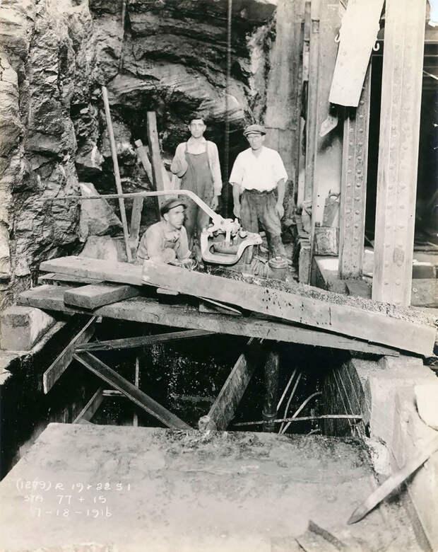
<path fill-rule="evenodd" d="M 222 389 L 220 389 L 218 397 L 208 411 L 208 414 L 199 420 L 199 429 L 201 431 L 226 430 L 234 417 L 237 406 L 239 406 L 249 380 L 256 369 L 255 350 L 249 352 L 249 347 L 252 343 L 253 338 L 247 343 L 247 352 L 243 352 L 237 359 L 234 367 L 232 367 L 227 381 L 225 381 Z M 256 348 L 259 350 L 259 347 Z"/>

